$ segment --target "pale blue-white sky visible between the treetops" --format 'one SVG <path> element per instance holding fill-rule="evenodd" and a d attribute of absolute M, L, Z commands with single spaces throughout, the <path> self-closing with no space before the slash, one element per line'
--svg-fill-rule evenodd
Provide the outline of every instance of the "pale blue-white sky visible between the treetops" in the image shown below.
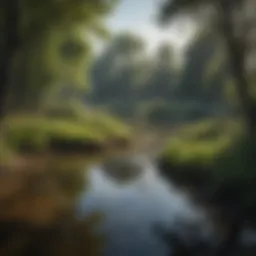
<path fill-rule="evenodd" d="M 182 48 L 193 34 L 191 22 L 176 23 L 164 29 L 157 24 L 160 0 L 120 0 L 108 19 L 108 26 L 114 32 L 132 31 L 144 37 L 149 49 L 162 41 L 170 41 Z"/>

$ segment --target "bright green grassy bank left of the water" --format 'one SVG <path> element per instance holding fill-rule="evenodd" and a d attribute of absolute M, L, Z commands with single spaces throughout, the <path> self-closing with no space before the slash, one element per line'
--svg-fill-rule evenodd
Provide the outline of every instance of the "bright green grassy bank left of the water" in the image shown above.
<path fill-rule="evenodd" d="M 95 152 L 113 141 L 128 142 L 130 129 L 111 116 L 91 113 L 83 118 L 10 116 L 5 143 L 15 152 Z"/>

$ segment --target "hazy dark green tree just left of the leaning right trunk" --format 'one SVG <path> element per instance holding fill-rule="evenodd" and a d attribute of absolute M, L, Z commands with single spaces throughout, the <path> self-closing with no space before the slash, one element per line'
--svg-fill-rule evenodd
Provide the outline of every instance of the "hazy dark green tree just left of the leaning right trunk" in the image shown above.
<path fill-rule="evenodd" d="M 226 64 L 221 38 L 200 27 L 188 45 L 177 96 L 191 103 L 200 101 L 209 111 L 216 107 L 227 110 L 223 96 L 231 75 Z"/>

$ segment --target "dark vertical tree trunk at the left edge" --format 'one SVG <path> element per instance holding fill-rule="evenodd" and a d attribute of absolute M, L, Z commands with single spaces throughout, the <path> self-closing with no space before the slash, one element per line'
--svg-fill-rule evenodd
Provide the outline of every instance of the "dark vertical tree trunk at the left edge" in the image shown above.
<path fill-rule="evenodd" d="M 12 60 L 19 44 L 19 0 L 4 0 L 4 35 L 0 64 L 0 121 L 5 114 L 9 74 Z"/>

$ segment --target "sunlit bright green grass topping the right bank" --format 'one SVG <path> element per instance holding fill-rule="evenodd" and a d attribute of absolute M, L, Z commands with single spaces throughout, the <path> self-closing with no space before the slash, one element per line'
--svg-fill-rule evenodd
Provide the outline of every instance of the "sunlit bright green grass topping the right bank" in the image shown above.
<path fill-rule="evenodd" d="M 241 129 L 239 124 L 207 120 L 187 125 L 170 139 L 163 158 L 177 163 L 211 164 Z"/>

